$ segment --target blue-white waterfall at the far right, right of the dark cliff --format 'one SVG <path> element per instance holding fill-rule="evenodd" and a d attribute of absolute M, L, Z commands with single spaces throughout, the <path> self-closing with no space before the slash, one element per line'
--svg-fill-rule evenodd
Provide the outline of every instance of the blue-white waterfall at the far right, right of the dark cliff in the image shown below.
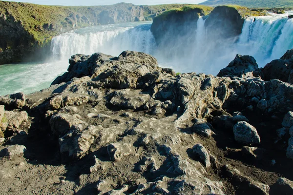
<path fill-rule="evenodd" d="M 253 56 L 260 66 L 279 59 L 293 48 L 293 20 L 288 19 L 289 13 L 293 12 L 245 20 L 236 51 Z"/>

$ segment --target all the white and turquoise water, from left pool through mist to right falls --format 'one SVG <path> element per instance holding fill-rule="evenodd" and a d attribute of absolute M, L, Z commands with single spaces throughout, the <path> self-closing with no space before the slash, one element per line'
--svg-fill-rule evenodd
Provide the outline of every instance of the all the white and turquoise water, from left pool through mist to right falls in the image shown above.
<path fill-rule="evenodd" d="M 64 33 L 52 39 L 52 57 L 47 63 L 21 63 L 0 66 L 0 95 L 23 91 L 30 93 L 50 85 L 66 72 L 68 59 L 77 53 L 102 52 L 118 56 L 135 50 L 153 55 L 163 67 L 176 72 L 204 72 L 216 75 L 236 54 L 255 57 L 260 67 L 280 58 L 293 48 L 293 19 L 283 15 L 248 18 L 242 34 L 235 39 L 212 40 L 207 36 L 205 20 L 184 27 L 185 33 L 165 35 L 165 45 L 156 46 L 150 32 L 151 22 L 101 25 Z"/>

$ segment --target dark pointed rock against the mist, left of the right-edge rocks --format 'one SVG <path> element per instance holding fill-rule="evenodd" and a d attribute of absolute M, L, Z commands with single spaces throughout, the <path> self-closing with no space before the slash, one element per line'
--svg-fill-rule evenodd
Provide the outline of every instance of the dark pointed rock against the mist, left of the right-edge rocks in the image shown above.
<path fill-rule="evenodd" d="M 258 77 L 260 76 L 260 70 L 256 63 L 256 60 L 251 56 L 236 55 L 235 59 L 229 63 L 229 65 L 220 70 L 217 77 Z"/>

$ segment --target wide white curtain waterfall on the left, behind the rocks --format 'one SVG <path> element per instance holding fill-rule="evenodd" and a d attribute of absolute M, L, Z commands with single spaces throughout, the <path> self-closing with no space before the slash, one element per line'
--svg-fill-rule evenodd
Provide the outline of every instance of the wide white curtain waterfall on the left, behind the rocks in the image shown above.
<path fill-rule="evenodd" d="M 155 39 L 150 32 L 151 23 L 128 25 L 102 25 L 64 33 L 52 39 L 52 55 L 55 59 L 67 60 L 78 53 L 102 52 L 113 56 L 125 50 L 153 53 Z"/>

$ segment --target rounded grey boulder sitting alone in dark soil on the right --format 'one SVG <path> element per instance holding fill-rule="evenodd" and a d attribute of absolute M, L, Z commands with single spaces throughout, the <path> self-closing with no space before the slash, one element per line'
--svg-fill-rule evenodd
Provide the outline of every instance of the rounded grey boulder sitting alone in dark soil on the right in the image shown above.
<path fill-rule="evenodd" d="M 241 144 L 259 144 L 260 137 L 256 129 L 249 123 L 242 121 L 237 122 L 233 127 L 235 141 Z"/>

